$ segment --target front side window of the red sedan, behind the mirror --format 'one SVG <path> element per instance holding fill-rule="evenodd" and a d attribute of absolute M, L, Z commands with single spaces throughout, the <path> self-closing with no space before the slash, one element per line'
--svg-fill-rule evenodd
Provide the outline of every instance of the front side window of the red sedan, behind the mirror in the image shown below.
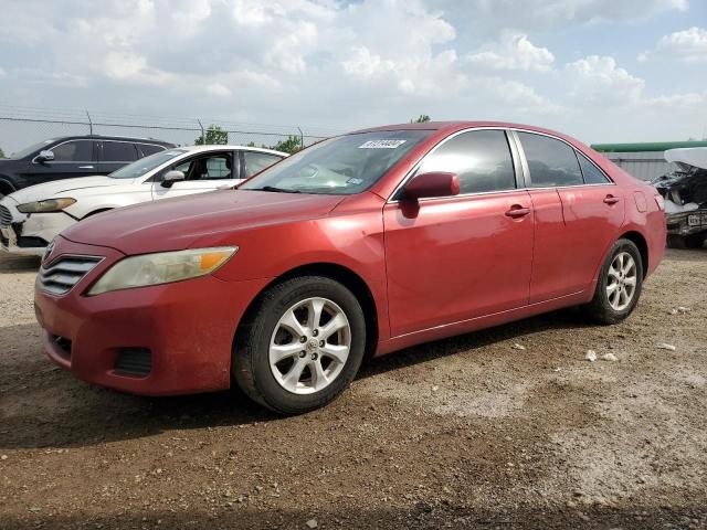
<path fill-rule="evenodd" d="M 418 173 L 450 171 L 460 177 L 460 193 L 516 188 L 508 139 L 503 130 L 472 130 L 455 136 L 429 155 Z"/>

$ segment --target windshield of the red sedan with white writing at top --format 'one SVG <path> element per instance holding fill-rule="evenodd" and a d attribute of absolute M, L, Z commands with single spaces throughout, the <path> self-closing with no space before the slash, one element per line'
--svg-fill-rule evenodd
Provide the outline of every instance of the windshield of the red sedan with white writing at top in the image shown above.
<path fill-rule="evenodd" d="M 370 188 L 432 130 L 379 130 L 339 136 L 286 158 L 239 187 L 351 195 Z"/>

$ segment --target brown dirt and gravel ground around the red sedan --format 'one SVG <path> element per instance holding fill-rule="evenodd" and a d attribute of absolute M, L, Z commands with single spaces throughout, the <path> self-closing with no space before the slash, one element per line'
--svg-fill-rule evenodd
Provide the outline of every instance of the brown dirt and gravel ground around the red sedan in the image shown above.
<path fill-rule="evenodd" d="M 671 251 L 622 325 L 411 348 L 287 418 L 77 381 L 41 351 L 35 272 L 0 258 L 1 529 L 707 528 L 707 250 Z"/>

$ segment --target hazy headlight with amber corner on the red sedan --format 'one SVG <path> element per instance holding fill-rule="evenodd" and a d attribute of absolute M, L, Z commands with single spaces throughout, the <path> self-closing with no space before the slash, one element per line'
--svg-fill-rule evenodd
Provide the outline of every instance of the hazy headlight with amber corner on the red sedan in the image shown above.
<path fill-rule="evenodd" d="M 217 246 L 126 257 L 106 271 L 88 295 L 204 276 L 228 262 L 238 250 L 238 246 Z"/>

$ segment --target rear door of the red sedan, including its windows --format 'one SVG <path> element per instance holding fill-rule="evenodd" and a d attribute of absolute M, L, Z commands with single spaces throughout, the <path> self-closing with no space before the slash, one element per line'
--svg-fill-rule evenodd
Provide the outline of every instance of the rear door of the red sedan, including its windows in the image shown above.
<path fill-rule="evenodd" d="M 563 140 L 529 131 L 516 137 L 536 211 L 530 303 L 585 290 L 623 224 L 623 199 Z"/>

